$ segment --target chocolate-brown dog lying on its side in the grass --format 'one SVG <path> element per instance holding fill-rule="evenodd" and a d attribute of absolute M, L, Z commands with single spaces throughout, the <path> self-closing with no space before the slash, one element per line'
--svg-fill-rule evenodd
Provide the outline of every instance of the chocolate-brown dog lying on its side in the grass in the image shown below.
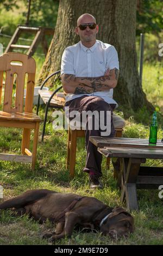
<path fill-rule="evenodd" d="M 112 209 L 96 198 L 77 194 L 62 194 L 48 189 L 28 190 L 4 201 L 0 210 L 12 207 L 18 215 L 27 213 L 37 221 L 49 219 L 57 223 L 54 233 L 43 236 L 51 237 L 51 241 L 70 237 L 76 224 L 99 230 L 114 239 L 134 231 L 134 219 L 126 210 L 121 207 Z"/>

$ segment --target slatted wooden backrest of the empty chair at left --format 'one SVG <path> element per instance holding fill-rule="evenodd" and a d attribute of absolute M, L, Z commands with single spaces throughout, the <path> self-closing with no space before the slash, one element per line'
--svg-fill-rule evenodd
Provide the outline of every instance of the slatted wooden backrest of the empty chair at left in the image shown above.
<path fill-rule="evenodd" d="M 23 54 L 9 52 L 0 56 L 0 86 L 3 85 L 3 75 L 5 74 L 4 86 L 4 102 L 3 111 L 5 112 L 23 112 L 23 97 L 26 74 L 27 79 L 27 92 L 25 112 L 32 112 L 33 109 L 33 96 L 35 85 L 35 71 L 36 63 L 34 58 Z M 15 104 L 12 104 L 13 84 L 15 74 L 16 78 L 16 98 Z M 1 96 L 0 96 L 1 97 Z"/>

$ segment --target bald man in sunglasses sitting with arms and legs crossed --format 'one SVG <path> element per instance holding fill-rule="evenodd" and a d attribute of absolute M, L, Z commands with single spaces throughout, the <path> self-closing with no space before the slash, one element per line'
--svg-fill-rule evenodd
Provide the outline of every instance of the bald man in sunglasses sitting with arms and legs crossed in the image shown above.
<path fill-rule="evenodd" d="M 76 34 L 79 43 L 65 49 L 61 61 L 61 80 L 64 91 L 68 93 L 65 106 L 69 111 L 78 110 L 82 116 L 83 111 L 97 111 L 104 113 L 104 127 L 111 126 L 109 134 L 115 136 L 112 111 L 117 103 L 112 99 L 113 88 L 117 85 L 119 74 L 118 55 L 115 47 L 96 40 L 98 25 L 96 19 L 90 14 L 83 14 L 77 20 Z M 108 116 L 111 112 L 111 118 Z M 99 115 L 99 123 L 102 123 Z M 90 136 L 101 136 L 104 130 L 96 129 L 96 118 L 92 116 L 92 127 L 86 120 L 86 165 L 85 172 L 90 175 L 90 188 L 102 188 L 102 155 L 97 147 L 90 141 Z"/>

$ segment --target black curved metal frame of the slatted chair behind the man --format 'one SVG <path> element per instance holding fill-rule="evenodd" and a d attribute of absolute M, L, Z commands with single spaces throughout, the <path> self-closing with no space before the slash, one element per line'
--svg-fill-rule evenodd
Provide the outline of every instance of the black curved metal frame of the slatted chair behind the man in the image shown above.
<path fill-rule="evenodd" d="M 43 81 L 40 90 L 42 90 L 43 86 L 46 84 L 46 82 L 52 78 L 52 76 L 54 75 L 58 75 L 60 73 L 60 70 L 58 70 L 57 72 L 52 73 L 51 75 L 49 75 L 45 81 Z M 47 114 L 48 114 L 48 108 L 55 108 L 55 109 L 61 109 L 63 108 L 63 106 L 61 105 L 54 105 L 51 103 L 52 98 L 54 97 L 54 95 L 62 88 L 62 86 L 59 86 L 53 93 L 51 92 L 46 92 L 46 94 L 48 94 L 48 100 L 45 100 L 41 97 L 41 94 L 39 93 L 39 97 L 38 97 L 38 102 L 37 102 L 37 111 L 36 114 L 39 113 L 39 107 L 40 107 L 40 97 L 43 99 L 43 102 L 46 104 L 46 110 L 45 110 L 45 117 L 43 120 L 43 131 L 42 131 L 42 138 L 41 141 L 43 141 L 43 137 L 45 135 L 45 128 L 46 128 L 46 121 L 47 121 Z"/>

